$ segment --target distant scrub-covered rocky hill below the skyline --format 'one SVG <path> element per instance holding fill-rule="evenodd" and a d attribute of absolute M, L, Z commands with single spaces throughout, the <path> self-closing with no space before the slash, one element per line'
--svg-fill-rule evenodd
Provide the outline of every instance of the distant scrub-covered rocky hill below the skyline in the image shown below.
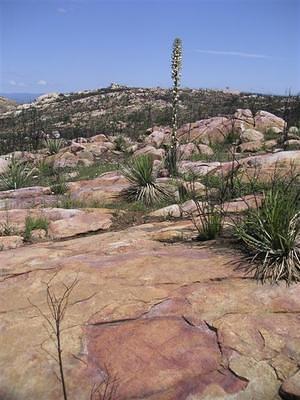
<path fill-rule="evenodd" d="M 37 96 L 35 94 L 34 96 Z M 289 116 L 284 96 L 239 93 L 228 90 L 180 90 L 179 126 L 200 119 L 232 115 L 237 109 L 269 111 L 289 117 L 291 124 L 300 121 L 299 97 L 294 97 Z M 148 128 L 172 122 L 172 90 L 111 86 L 73 93 L 48 93 L 31 104 L 18 105 L 16 112 L 0 114 L 0 140 L 12 133 L 22 138 L 24 132 L 36 137 L 39 132 L 59 131 L 71 139 L 97 133 L 138 138 Z M 21 140 L 21 139 L 20 139 Z"/>

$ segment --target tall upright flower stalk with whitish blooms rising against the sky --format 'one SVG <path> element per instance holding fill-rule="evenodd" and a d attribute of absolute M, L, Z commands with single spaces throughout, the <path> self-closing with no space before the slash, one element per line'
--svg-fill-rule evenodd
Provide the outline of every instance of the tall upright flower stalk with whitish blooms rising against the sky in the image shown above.
<path fill-rule="evenodd" d="M 172 49 L 172 80 L 173 80 L 173 100 L 172 100 L 172 137 L 171 145 L 167 155 L 167 166 L 171 175 L 177 175 L 177 128 L 178 128 L 178 101 L 179 86 L 182 65 L 182 43 L 176 38 Z"/>

